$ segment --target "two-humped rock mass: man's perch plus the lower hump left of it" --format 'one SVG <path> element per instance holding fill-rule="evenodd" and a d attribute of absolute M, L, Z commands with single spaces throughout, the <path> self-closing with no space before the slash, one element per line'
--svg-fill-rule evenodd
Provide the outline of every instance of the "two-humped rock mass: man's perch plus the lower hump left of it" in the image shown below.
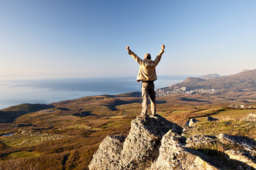
<path fill-rule="evenodd" d="M 89 169 L 145 169 L 157 159 L 160 140 L 168 131 L 181 134 L 182 127 L 160 115 L 135 118 L 123 143 L 123 137 L 116 136 L 101 142 Z"/>

